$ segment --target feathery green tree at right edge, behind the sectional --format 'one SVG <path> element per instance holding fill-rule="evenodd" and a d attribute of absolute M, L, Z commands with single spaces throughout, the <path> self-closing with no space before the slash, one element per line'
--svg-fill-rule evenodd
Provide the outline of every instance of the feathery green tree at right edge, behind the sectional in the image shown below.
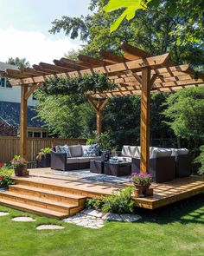
<path fill-rule="evenodd" d="M 204 88 L 183 89 L 169 95 L 163 114 L 176 136 L 188 141 L 194 155 L 204 144 Z"/>

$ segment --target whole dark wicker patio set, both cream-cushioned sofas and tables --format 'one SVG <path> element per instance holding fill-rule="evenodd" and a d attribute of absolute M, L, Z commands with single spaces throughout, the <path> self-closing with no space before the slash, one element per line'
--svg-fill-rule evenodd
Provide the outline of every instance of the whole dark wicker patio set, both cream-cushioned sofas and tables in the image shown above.
<path fill-rule="evenodd" d="M 56 146 L 51 152 L 51 168 L 70 171 L 90 168 L 90 172 L 126 176 L 140 172 L 140 147 L 123 146 L 116 161 L 105 161 L 99 146 Z M 153 181 L 162 183 L 191 174 L 191 156 L 186 148 L 150 147 L 150 174 Z"/>

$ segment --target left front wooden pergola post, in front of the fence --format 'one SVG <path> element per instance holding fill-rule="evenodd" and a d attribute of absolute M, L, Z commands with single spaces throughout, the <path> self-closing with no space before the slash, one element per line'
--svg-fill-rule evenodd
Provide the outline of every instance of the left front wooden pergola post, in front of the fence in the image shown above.
<path fill-rule="evenodd" d="M 20 154 L 27 159 L 27 120 L 28 120 L 28 99 L 26 94 L 28 85 L 21 86 L 21 128 L 20 128 Z"/>

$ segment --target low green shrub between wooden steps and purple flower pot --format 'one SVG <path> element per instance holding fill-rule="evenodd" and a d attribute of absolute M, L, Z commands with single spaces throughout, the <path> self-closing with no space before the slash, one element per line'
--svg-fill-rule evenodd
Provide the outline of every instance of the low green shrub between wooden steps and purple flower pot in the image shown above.
<path fill-rule="evenodd" d="M 104 213 L 133 213 L 134 200 L 131 198 L 133 187 L 119 189 L 112 195 L 103 196 L 99 199 L 89 199 L 86 207 L 102 210 Z"/>

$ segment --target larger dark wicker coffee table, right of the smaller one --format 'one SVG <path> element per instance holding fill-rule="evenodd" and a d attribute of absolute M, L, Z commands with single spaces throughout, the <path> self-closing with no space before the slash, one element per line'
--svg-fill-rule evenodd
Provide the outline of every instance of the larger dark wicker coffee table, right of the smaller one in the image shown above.
<path fill-rule="evenodd" d="M 131 175 L 131 162 L 129 161 L 105 161 L 104 174 L 112 176 Z"/>

